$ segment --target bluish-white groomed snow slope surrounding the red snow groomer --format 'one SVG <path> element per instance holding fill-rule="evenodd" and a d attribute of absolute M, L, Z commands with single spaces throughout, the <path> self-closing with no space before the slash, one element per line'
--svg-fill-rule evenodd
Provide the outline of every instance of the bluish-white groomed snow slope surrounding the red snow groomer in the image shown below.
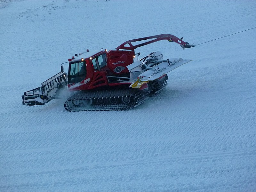
<path fill-rule="evenodd" d="M 1 0 L 0 191 L 256 191 L 256 29 L 141 56 L 192 59 L 129 111 L 23 106 L 86 49 L 170 33 L 195 44 L 256 27 L 252 0 Z M 67 66 L 65 66 L 67 71 Z"/>

